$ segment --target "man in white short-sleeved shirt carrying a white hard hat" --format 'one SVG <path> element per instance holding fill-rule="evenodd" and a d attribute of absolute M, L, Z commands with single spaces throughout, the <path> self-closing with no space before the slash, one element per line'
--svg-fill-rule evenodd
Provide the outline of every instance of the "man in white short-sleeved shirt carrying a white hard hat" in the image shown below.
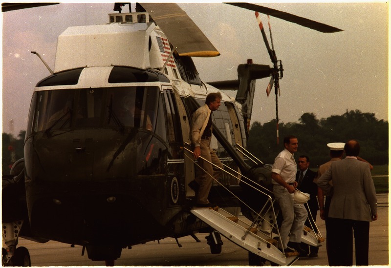
<path fill-rule="evenodd" d="M 300 242 L 307 211 L 304 205 L 296 204 L 293 200 L 293 193 L 297 186 L 297 168 L 293 153 L 297 152 L 298 144 L 295 136 L 285 137 L 284 150 L 276 157 L 272 167 L 273 194 L 280 205 L 283 218 L 279 247 L 289 255 L 299 255 L 305 252 L 300 247 Z"/>

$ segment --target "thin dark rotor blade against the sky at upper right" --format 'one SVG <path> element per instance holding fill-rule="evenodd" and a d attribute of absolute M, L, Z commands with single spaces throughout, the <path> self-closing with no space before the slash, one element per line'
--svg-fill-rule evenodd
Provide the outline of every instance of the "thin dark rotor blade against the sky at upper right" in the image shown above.
<path fill-rule="evenodd" d="M 239 6 L 241 8 L 245 8 L 245 9 L 249 9 L 249 10 L 253 10 L 253 11 L 258 11 L 263 14 L 270 15 L 270 16 L 282 19 L 284 21 L 290 21 L 290 22 L 302 25 L 304 27 L 307 27 L 307 28 L 310 28 L 313 30 L 317 30 L 319 32 L 323 32 L 323 33 L 336 33 L 336 32 L 343 31 L 341 29 L 338 29 L 336 27 L 333 27 L 333 26 L 330 26 L 330 25 L 327 25 L 327 24 L 324 24 L 324 23 L 321 23 L 318 21 L 312 21 L 312 20 L 309 20 L 309 19 L 306 19 L 303 17 L 299 17 L 299 16 L 296 16 L 296 15 L 293 15 L 293 14 L 290 14 L 287 12 L 279 11 L 277 9 L 272 9 L 272 8 L 268 8 L 268 7 L 264 7 L 264 6 L 260 6 L 260 5 L 256 5 L 256 4 L 250 4 L 250 3 L 227 3 L 227 4 Z"/>

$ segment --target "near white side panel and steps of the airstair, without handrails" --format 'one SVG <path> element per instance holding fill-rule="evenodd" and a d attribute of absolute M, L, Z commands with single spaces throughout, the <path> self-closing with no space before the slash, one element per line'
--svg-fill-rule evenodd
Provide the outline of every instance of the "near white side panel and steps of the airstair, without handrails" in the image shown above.
<path fill-rule="evenodd" d="M 249 224 L 221 208 L 197 207 L 190 212 L 239 247 L 270 262 L 288 266 L 298 259 L 297 256 L 289 254 L 285 256 L 277 248 L 277 241 L 270 235 L 260 232 L 256 228 L 250 228 Z"/>

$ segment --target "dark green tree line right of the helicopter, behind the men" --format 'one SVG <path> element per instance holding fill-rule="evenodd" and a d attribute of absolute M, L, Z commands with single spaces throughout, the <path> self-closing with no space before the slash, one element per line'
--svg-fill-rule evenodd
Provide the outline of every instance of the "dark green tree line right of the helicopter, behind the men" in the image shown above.
<path fill-rule="evenodd" d="M 360 156 L 372 165 L 389 163 L 388 121 L 378 120 L 374 113 L 350 110 L 342 115 L 332 115 L 318 120 L 314 113 L 304 113 L 298 123 L 280 123 L 280 142 L 277 144 L 276 120 L 251 125 L 247 149 L 263 163 L 273 164 L 283 149 L 283 138 L 294 135 L 299 148 L 295 157 L 307 155 L 311 167 L 318 167 L 330 160 L 328 143 L 345 143 L 357 140 Z"/>

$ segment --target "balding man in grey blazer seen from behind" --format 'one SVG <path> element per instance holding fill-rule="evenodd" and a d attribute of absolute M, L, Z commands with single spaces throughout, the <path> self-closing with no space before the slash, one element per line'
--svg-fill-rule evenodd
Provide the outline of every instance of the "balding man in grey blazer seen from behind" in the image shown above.
<path fill-rule="evenodd" d="M 326 193 L 333 192 L 327 218 L 328 265 L 353 265 L 354 233 L 356 265 L 368 266 L 369 222 L 377 220 L 375 186 L 369 164 L 357 159 L 360 144 L 350 140 L 344 148 L 346 158 L 333 162 L 317 182 Z"/>

